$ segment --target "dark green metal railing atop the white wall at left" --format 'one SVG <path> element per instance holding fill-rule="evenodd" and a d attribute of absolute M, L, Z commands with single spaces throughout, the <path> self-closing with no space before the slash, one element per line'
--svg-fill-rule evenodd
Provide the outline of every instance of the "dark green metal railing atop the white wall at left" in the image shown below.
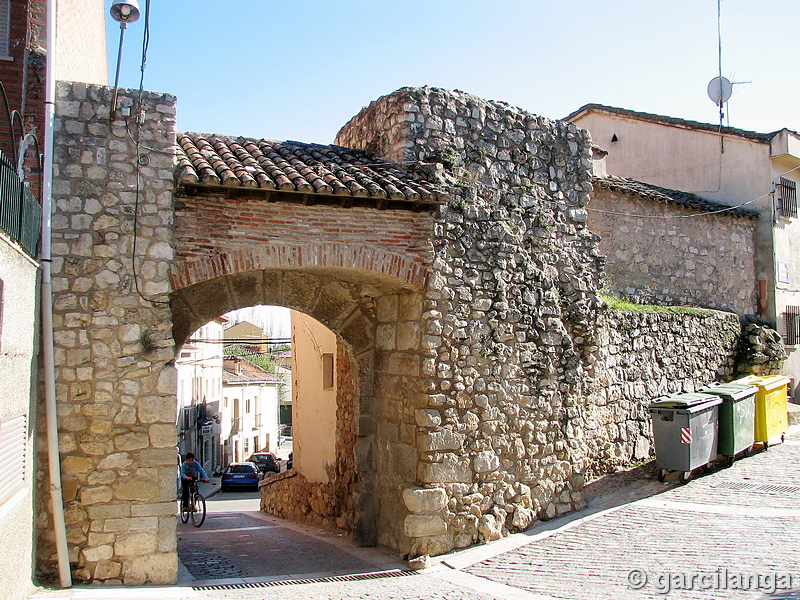
<path fill-rule="evenodd" d="M 39 249 L 42 207 L 20 180 L 14 165 L 0 152 L 0 228 L 31 256 Z"/>

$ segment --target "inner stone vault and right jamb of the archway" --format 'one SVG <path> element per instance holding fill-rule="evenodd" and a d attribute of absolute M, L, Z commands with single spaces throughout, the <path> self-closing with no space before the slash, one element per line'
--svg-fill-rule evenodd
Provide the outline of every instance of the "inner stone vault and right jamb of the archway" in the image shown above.
<path fill-rule="evenodd" d="M 400 546 L 402 490 L 416 477 L 412 395 L 421 377 L 422 289 L 384 274 L 341 267 L 260 269 L 201 281 L 172 293 L 176 343 L 219 315 L 253 303 L 285 306 L 326 325 L 351 363 L 354 398 L 351 423 L 338 427 L 350 441 L 330 493 L 345 499 L 352 514 L 336 515 L 362 545 Z M 213 317 L 210 317 L 213 318 Z M 345 412 L 347 413 L 347 408 Z M 281 486 L 292 493 L 300 479 Z M 301 492 L 298 492 L 301 493 Z M 333 500 L 333 499 L 332 499 Z"/>

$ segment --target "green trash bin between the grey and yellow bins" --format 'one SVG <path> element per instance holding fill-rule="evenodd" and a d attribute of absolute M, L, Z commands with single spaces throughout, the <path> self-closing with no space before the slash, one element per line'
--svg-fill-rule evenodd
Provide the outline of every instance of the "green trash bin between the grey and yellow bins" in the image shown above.
<path fill-rule="evenodd" d="M 758 388 L 742 383 L 716 383 L 697 391 L 722 398 L 717 452 L 728 458 L 728 466 L 740 452 L 748 456 L 753 447 Z"/>

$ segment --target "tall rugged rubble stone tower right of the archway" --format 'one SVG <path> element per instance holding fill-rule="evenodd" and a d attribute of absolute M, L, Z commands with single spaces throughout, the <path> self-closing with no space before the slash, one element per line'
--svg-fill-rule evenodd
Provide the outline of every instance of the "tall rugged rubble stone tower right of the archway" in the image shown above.
<path fill-rule="evenodd" d="M 585 369 L 599 304 L 585 132 L 434 88 L 376 100 L 337 143 L 449 186 L 413 398 L 412 554 L 497 539 L 582 503 Z M 438 490 L 438 491 L 437 491 Z"/>

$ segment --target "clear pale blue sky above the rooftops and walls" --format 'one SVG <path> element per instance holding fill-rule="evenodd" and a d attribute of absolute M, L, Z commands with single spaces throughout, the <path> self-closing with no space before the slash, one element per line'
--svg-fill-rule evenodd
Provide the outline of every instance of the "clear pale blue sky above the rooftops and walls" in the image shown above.
<path fill-rule="evenodd" d="M 732 126 L 800 129 L 798 17 L 800 0 L 722 0 L 723 75 L 752 81 Z M 181 131 L 331 143 L 372 100 L 421 85 L 550 118 L 595 102 L 718 119 L 716 0 L 151 0 L 150 19 L 145 88 L 178 97 Z M 126 33 L 125 87 L 143 25 Z"/>

